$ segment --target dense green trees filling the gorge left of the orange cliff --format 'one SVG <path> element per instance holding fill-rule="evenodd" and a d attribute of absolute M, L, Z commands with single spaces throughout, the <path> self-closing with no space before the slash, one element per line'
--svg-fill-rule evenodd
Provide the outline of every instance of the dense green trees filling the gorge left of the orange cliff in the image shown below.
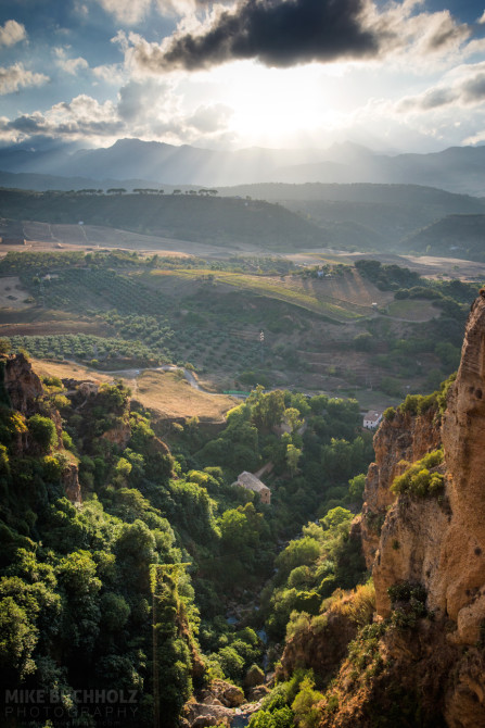
<path fill-rule="evenodd" d="M 254 673 L 256 630 L 280 641 L 295 611 L 314 614 L 363 578 L 348 509 L 372 451 L 356 402 L 258 388 L 216 438 L 196 421 L 174 425 L 171 454 L 120 384 L 87 394 L 49 377 L 25 411 L 4 392 L 0 417 L 2 681 L 58 694 L 53 726 L 92 688 L 136 696 L 124 725 L 154 710 L 176 725 L 194 686 Z M 271 506 L 231 485 L 268 461 Z M 76 468 L 82 505 L 66 498 Z M 226 620 L 233 600 L 246 604 L 238 626 Z M 103 711 L 85 707 L 79 725 L 98 725 Z"/>

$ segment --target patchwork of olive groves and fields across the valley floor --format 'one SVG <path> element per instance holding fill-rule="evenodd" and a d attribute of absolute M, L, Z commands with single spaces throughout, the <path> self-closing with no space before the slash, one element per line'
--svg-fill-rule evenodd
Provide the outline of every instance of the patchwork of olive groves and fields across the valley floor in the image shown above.
<path fill-rule="evenodd" d="M 219 393 L 261 384 L 358 391 L 367 402 L 368 390 L 371 401 L 395 401 L 408 387 L 438 386 L 459 355 L 474 285 L 429 283 L 394 258 L 381 268 L 367 259 L 373 277 L 366 266 L 323 260 L 17 250 L 0 260 L 0 291 L 22 292 L 22 309 L 0 306 L 0 336 L 15 351 L 52 365 L 75 361 L 106 380 L 114 371 L 193 368 L 204 389 Z M 231 406 L 175 376 L 145 372 L 131 386 L 168 418 L 218 421 Z"/>

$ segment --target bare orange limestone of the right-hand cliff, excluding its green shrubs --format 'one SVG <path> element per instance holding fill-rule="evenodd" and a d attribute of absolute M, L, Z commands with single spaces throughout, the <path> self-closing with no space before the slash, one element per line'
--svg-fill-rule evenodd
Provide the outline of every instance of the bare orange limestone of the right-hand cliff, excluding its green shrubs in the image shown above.
<path fill-rule="evenodd" d="M 442 445 L 444 491 L 439 497 L 396 497 L 390 490 L 395 476 L 406 467 L 400 461 L 413 463 Z M 372 567 L 378 614 L 386 617 L 391 612 L 390 587 L 418 582 L 426 590 L 426 607 L 434 613 L 434 623 L 422 620 L 417 639 L 411 639 L 409 631 L 407 639 L 386 632 L 382 649 L 391 656 L 387 669 L 366 695 L 362 693 L 360 703 L 356 693 L 349 693 L 347 707 L 339 711 L 339 720 L 329 718 L 321 726 L 367 725 L 365 720 L 359 723 L 362 713 L 358 711 L 369 702 L 383 700 L 386 685 L 400 681 L 426 696 L 430 711 L 442 716 L 443 725 L 485 728 L 483 297 L 472 306 L 461 364 L 443 416 L 436 410 L 421 416 L 397 413 L 392 421 L 383 422 L 374 447 L 361 531 L 366 561 Z M 342 670 L 341 675 L 340 685 L 345 686 Z"/>

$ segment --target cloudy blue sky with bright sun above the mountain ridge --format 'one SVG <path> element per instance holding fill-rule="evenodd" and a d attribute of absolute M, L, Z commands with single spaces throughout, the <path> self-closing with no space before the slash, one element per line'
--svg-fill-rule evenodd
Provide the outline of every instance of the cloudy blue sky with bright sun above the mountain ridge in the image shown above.
<path fill-rule="evenodd" d="M 485 0 L 2 0 L 0 146 L 485 143 Z"/>

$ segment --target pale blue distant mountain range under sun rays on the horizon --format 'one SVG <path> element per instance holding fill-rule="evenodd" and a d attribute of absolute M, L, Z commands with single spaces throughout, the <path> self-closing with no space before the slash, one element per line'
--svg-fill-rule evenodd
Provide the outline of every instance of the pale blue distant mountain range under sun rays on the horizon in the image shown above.
<path fill-rule="evenodd" d="M 72 187 L 94 180 L 142 180 L 157 185 L 231 186 L 257 183 L 373 183 L 438 187 L 451 192 L 485 196 L 485 147 L 454 147 L 429 154 L 375 153 L 350 142 L 327 150 L 243 149 L 220 151 L 187 145 L 120 139 L 103 149 L 72 153 L 67 148 L 33 151 L 0 150 L 0 184 L 26 187 L 27 179 L 4 173 L 78 177 Z M 46 189 L 56 180 L 29 180 Z M 55 184 L 60 188 L 61 184 Z M 52 185 L 51 185 L 52 187 Z M 64 187 L 64 186 L 62 186 Z"/>

